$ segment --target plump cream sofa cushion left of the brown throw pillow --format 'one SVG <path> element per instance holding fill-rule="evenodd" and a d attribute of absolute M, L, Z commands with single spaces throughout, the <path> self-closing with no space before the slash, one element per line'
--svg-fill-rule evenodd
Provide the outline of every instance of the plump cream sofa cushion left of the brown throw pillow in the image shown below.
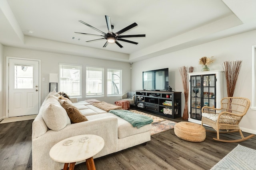
<path fill-rule="evenodd" d="M 59 131 L 70 124 L 67 112 L 62 106 L 51 102 L 42 106 L 41 109 L 42 117 L 49 129 Z"/>

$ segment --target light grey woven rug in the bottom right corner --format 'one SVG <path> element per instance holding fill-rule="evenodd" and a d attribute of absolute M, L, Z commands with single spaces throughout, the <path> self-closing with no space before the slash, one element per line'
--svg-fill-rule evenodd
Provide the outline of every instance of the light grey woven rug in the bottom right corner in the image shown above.
<path fill-rule="evenodd" d="M 237 145 L 211 170 L 256 170 L 256 150 Z"/>

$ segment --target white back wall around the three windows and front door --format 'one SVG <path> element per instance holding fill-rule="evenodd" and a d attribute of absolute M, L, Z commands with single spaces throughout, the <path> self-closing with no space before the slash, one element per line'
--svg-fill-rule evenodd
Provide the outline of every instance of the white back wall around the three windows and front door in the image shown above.
<path fill-rule="evenodd" d="M 92 59 L 88 57 L 79 57 L 73 55 L 63 55 L 58 53 L 47 53 L 42 51 L 28 50 L 28 49 L 20 49 L 14 47 L 4 47 L 4 57 L 2 57 L 3 61 L 0 64 L 4 67 L 4 74 L 6 72 L 5 63 L 6 57 L 20 57 L 20 58 L 28 58 L 28 59 L 40 59 L 41 60 L 41 102 L 43 102 L 45 96 L 49 92 L 49 74 L 50 73 L 59 73 L 59 63 L 67 63 L 67 64 L 80 64 L 82 65 L 82 99 L 85 97 L 85 82 L 86 82 L 86 65 L 89 66 L 102 66 L 104 68 L 121 68 L 122 69 L 122 92 L 130 91 L 130 80 L 131 80 L 131 70 L 130 63 L 118 62 L 118 61 L 110 61 L 110 60 L 102 60 L 102 59 Z M 1 70 L 2 71 L 2 70 Z M 105 70 L 106 72 L 106 70 Z M 106 74 L 105 74 L 106 75 Z M 45 78 L 45 81 L 42 79 Z M 6 93 L 5 88 L 5 77 L 1 78 L 0 81 L 4 79 L 4 82 L 0 84 L 4 84 L 4 89 L 2 90 L 4 94 Z M 105 82 L 107 81 L 105 77 Z M 59 89 L 59 87 L 58 87 Z M 105 88 L 106 94 L 106 88 Z M 1 94 L 0 94 L 1 95 Z M 1 97 L 1 96 L 0 96 Z M 121 97 L 105 97 L 98 98 L 98 100 L 106 101 L 114 104 L 116 100 L 120 100 Z M 5 103 L 4 96 L 4 103 Z M 1 102 L 2 104 L 2 102 Z M 5 106 L 5 105 L 4 105 Z M 4 113 L 5 114 L 5 113 Z"/>

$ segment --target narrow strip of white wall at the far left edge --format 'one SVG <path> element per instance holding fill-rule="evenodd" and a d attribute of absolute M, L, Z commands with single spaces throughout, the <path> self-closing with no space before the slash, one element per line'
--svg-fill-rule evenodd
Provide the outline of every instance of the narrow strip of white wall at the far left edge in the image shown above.
<path fill-rule="evenodd" d="M 0 120 L 2 120 L 5 116 L 4 113 L 4 108 L 3 108 L 3 76 L 4 76 L 4 68 L 2 67 L 2 65 L 4 65 L 4 46 L 2 44 L 0 44 Z"/>

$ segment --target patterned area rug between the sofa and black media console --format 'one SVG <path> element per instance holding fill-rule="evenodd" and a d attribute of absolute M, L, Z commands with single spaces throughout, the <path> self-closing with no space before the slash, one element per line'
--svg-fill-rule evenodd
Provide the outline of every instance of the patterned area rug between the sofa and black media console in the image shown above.
<path fill-rule="evenodd" d="M 158 116 L 150 115 L 150 114 L 144 113 L 142 111 L 138 111 L 138 110 L 129 110 L 129 111 L 132 111 L 134 113 L 139 113 L 142 115 L 146 115 L 153 119 L 153 122 L 151 123 L 151 133 L 150 133 L 151 135 L 154 135 L 156 133 L 160 133 L 163 131 L 167 131 L 169 129 L 173 129 L 174 125 L 176 124 L 176 122 L 174 122 L 174 121 L 170 121 L 170 120 L 158 117 Z"/>

